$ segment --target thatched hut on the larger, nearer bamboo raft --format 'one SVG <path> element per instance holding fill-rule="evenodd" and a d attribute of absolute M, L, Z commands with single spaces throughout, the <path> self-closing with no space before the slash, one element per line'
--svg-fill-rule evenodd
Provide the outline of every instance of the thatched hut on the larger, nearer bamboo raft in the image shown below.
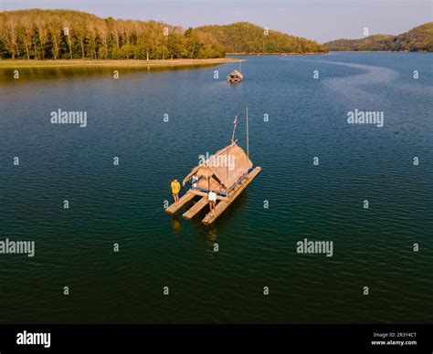
<path fill-rule="evenodd" d="M 185 177 L 185 185 L 193 176 L 198 181 L 193 184 L 193 189 L 208 192 L 212 190 L 216 193 L 229 193 L 244 178 L 252 168 L 247 154 L 236 142 L 232 142 L 226 148 L 216 151 L 215 155 L 210 156 Z M 194 183 L 194 182 L 193 182 Z"/>

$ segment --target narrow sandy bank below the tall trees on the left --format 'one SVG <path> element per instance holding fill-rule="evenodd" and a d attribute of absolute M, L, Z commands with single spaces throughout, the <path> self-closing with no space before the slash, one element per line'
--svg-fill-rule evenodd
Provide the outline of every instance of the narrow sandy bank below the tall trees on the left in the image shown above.
<path fill-rule="evenodd" d="M 166 59 L 166 60 L 90 60 L 90 59 L 58 59 L 58 60 L 0 60 L 2 68 L 179 68 L 199 67 L 227 63 L 238 63 L 246 59 L 236 57 L 217 57 L 209 59 Z"/>

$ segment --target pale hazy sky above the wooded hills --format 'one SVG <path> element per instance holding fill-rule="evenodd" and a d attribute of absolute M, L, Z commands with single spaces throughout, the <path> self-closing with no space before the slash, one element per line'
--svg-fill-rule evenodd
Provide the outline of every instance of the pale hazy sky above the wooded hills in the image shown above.
<path fill-rule="evenodd" d="M 433 21 L 433 0 L 0 0 L 0 9 L 68 8 L 98 16 L 202 26 L 248 21 L 319 42 L 396 35 Z"/>

